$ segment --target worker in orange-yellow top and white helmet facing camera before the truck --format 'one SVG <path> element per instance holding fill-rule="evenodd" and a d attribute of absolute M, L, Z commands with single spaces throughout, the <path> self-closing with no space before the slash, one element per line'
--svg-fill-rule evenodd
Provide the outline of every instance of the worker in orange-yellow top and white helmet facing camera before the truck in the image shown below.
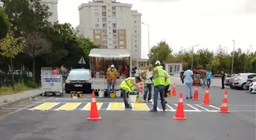
<path fill-rule="evenodd" d="M 115 82 L 117 81 L 117 69 L 114 64 L 111 64 L 110 68 L 107 69 L 107 95 L 110 96 L 110 91 L 114 92 Z"/>

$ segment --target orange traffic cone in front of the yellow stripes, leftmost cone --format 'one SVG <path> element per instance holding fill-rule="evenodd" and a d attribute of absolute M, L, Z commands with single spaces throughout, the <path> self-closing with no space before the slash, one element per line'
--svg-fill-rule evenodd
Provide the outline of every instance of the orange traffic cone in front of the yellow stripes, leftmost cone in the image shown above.
<path fill-rule="evenodd" d="M 90 116 L 87 118 L 87 120 L 101 120 L 101 117 L 99 117 L 99 114 L 98 114 L 98 107 L 96 104 L 94 91 L 91 94 L 91 110 L 90 110 Z"/>

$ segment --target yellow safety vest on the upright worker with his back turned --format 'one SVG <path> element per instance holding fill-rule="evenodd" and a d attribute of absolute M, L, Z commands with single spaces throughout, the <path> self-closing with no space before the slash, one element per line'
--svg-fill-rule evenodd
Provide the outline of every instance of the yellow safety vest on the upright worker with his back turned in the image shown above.
<path fill-rule="evenodd" d="M 165 86 L 165 70 L 162 69 L 161 66 L 155 67 L 157 73 L 153 76 L 153 84 L 154 86 L 162 85 Z"/>

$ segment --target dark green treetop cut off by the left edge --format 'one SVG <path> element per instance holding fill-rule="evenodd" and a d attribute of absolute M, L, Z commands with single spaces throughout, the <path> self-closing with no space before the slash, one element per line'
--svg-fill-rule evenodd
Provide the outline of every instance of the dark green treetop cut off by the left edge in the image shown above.
<path fill-rule="evenodd" d="M 5 14 L 5 11 L 0 8 L 0 40 L 5 38 L 8 31 L 10 30 L 11 23 L 9 22 L 8 16 Z"/>

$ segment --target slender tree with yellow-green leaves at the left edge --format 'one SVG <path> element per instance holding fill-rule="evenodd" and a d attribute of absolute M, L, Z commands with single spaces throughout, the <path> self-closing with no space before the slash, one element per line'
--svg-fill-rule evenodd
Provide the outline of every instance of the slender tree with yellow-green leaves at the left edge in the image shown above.
<path fill-rule="evenodd" d="M 17 30 L 17 28 L 14 28 Z M 22 34 L 22 33 L 21 33 Z M 11 77 L 12 77 L 12 88 L 14 91 L 14 73 L 13 73 L 13 59 L 16 55 L 20 54 L 24 48 L 24 38 L 23 37 L 14 37 L 14 31 L 10 30 L 6 37 L 0 41 L 0 54 L 10 59 L 11 61 Z"/>

